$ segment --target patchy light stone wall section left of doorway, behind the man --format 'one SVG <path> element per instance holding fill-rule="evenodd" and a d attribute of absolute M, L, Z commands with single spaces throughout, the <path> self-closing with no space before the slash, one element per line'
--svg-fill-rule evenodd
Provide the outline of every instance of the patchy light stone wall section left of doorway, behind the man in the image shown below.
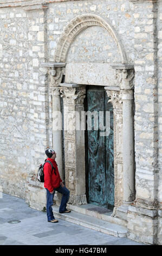
<path fill-rule="evenodd" d="M 46 17 L 19 7 L 0 8 L 0 17 L 1 182 L 4 192 L 25 198 L 27 177 L 51 145 L 51 96 L 41 68 Z"/>

